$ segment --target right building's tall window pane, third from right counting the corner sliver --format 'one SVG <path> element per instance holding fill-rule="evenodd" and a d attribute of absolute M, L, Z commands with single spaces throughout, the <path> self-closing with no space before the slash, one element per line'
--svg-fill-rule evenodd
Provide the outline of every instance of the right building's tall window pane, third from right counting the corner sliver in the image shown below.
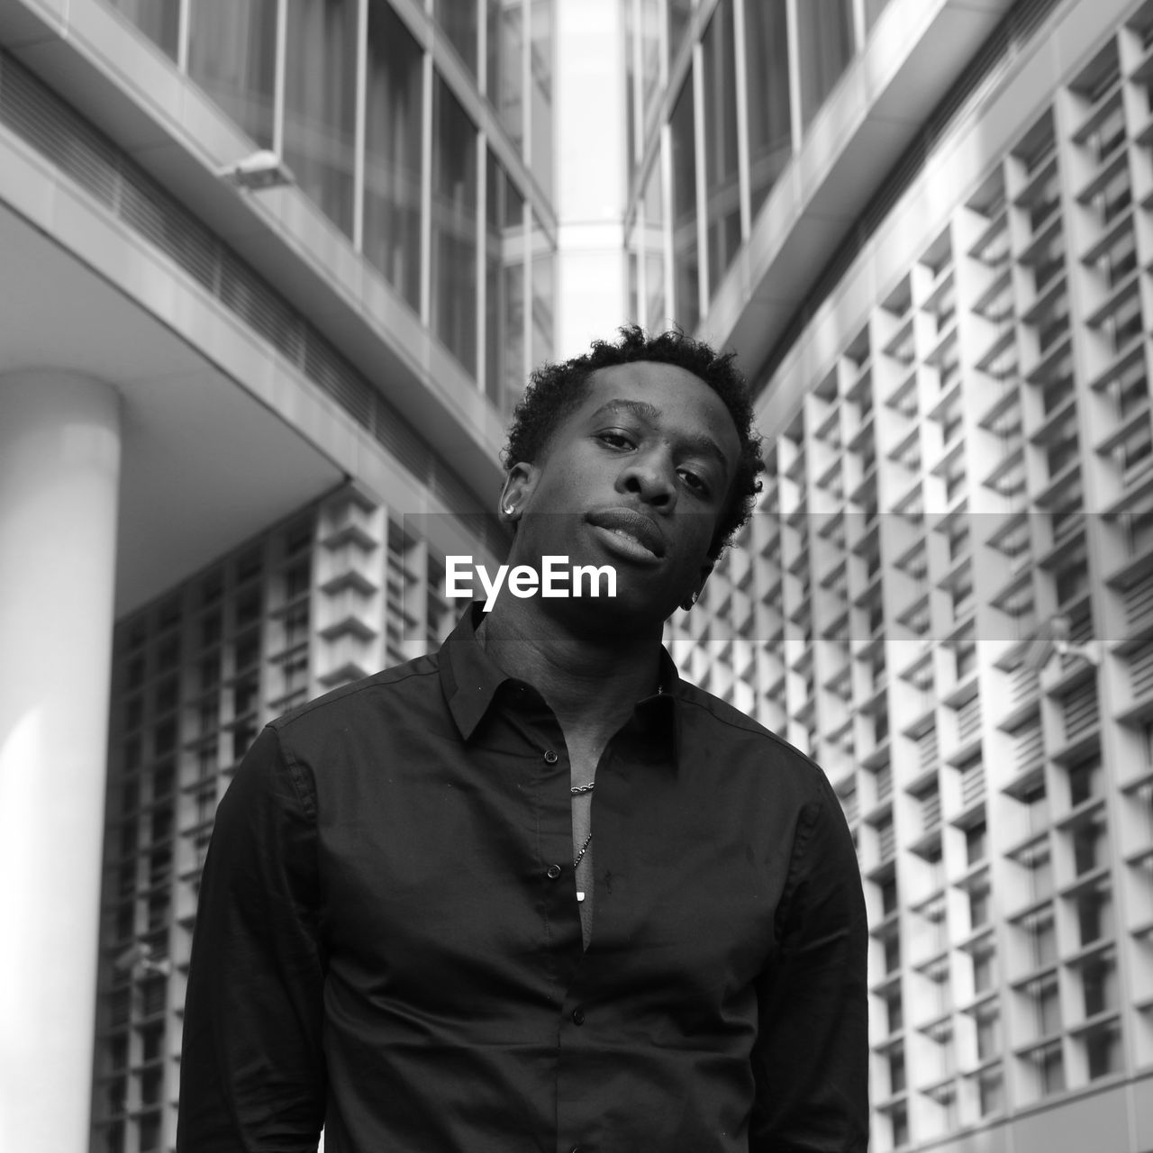
<path fill-rule="evenodd" d="M 748 187 L 755 214 L 792 153 L 785 0 L 745 5 L 745 75 Z"/>

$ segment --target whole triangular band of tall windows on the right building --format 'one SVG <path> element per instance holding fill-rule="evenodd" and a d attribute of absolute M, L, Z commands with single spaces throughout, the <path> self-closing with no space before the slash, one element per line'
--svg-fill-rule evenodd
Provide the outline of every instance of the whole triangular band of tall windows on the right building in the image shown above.
<path fill-rule="evenodd" d="M 627 99 L 639 110 L 630 122 L 625 233 L 636 274 L 628 309 L 649 327 L 675 322 L 692 330 L 701 301 L 715 296 L 809 122 L 862 47 L 854 0 L 621 2 Z M 869 0 L 866 31 L 883 7 Z M 668 239 L 658 241 L 654 226 L 663 213 L 653 208 L 665 196 L 672 214 Z M 668 272 L 656 274 L 655 263 L 665 259 Z M 657 287 L 663 282 L 672 286 L 671 310 Z"/>

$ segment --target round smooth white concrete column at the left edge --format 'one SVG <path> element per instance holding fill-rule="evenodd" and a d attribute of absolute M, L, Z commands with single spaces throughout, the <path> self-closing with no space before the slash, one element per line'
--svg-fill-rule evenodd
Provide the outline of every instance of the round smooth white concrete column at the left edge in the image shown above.
<path fill-rule="evenodd" d="M 0 376 L 0 1150 L 89 1147 L 120 416 Z"/>

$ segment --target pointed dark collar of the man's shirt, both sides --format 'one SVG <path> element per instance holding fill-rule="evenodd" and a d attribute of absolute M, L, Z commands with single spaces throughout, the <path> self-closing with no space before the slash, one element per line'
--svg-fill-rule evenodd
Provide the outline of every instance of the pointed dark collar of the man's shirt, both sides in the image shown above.
<path fill-rule="evenodd" d="M 476 630 L 484 619 L 481 603 L 474 602 L 440 647 L 440 687 L 461 737 L 468 740 L 484 718 L 500 686 L 512 681 L 484 651 Z M 680 755 L 683 683 L 668 649 L 661 649 L 661 692 L 636 704 L 634 718 L 655 751 L 671 746 L 673 760 Z"/>

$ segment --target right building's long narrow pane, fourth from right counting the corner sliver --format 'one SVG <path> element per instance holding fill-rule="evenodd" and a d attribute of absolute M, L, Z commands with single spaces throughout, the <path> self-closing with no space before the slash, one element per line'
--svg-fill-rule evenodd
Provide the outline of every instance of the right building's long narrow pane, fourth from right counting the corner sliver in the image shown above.
<path fill-rule="evenodd" d="M 740 244 L 732 0 L 721 0 L 717 5 L 701 46 L 704 53 L 704 171 L 708 173 L 709 294 L 711 295 L 716 292 Z"/>

